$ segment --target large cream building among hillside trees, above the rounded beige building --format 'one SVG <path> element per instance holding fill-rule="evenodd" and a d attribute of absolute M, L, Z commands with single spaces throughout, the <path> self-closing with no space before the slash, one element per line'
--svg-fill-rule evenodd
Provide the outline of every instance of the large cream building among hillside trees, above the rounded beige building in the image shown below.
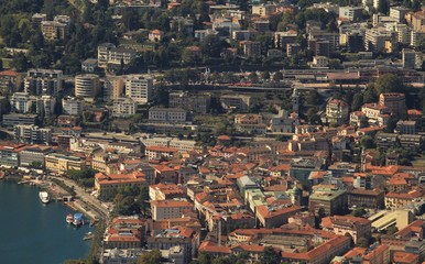
<path fill-rule="evenodd" d="M 129 64 L 135 58 L 137 53 L 133 50 L 116 47 L 112 43 L 103 43 L 97 47 L 97 55 L 98 66 L 105 68 L 108 64 Z"/>

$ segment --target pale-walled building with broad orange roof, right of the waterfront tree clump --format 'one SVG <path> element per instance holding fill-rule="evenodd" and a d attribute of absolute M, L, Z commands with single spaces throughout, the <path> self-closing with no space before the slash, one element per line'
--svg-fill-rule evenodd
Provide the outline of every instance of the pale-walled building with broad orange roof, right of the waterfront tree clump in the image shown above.
<path fill-rule="evenodd" d="M 194 204 L 184 200 L 153 200 L 151 201 L 152 220 L 179 218 L 194 210 Z"/>

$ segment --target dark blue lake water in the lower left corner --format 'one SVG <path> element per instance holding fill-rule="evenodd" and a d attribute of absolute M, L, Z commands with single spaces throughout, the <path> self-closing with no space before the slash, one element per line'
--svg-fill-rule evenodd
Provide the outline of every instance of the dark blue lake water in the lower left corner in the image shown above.
<path fill-rule="evenodd" d="M 0 263 L 58 264 L 85 258 L 95 228 L 74 228 L 65 221 L 73 212 L 61 202 L 43 205 L 35 186 L 0 180 Z"/>

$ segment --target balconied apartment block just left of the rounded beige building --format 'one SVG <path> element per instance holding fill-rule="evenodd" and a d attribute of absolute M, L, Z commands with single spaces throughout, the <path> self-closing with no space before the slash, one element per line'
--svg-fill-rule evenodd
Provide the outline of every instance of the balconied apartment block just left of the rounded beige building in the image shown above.
<path fill-rule="evenodd" d="M 30 69 L 24 78 L 24 90 L 35 96 L 57 96 L 62 90 L 63 72 L 58 69 Z"/>

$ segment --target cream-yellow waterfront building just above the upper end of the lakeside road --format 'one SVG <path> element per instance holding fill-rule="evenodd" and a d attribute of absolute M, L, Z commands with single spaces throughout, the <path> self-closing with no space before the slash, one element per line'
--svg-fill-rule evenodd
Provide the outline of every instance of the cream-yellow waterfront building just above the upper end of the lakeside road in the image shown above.
<path fill-rule="evenodd" d="M 85 160 L 58 153 L 46 155 L 44 162 L 46 169 L 56 174 L 65 174 L 70 169 L 83 170 L 86 168 Z"/>

